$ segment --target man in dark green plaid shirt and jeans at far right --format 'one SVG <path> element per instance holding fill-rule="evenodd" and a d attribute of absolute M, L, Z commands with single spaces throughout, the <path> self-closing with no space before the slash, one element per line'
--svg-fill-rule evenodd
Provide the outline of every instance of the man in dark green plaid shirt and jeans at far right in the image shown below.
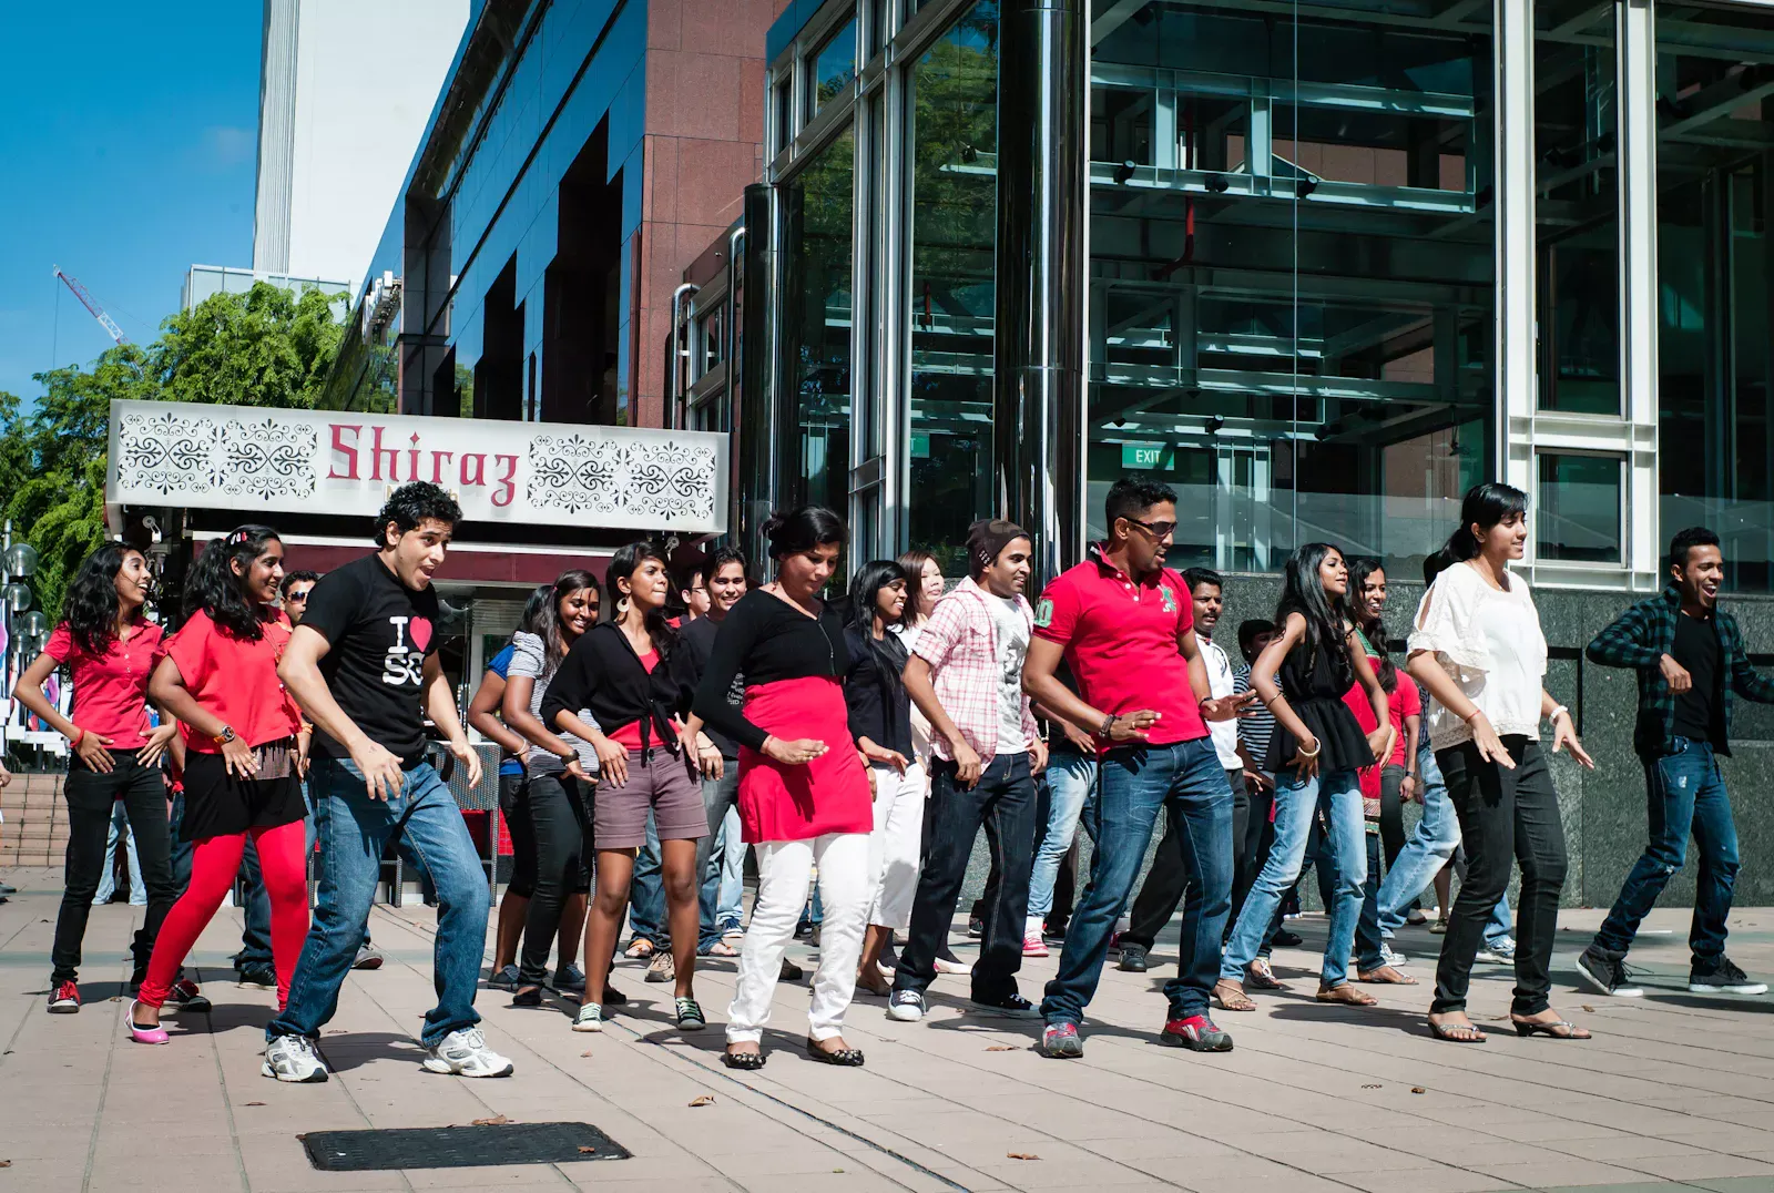
<path fill-rule="evenodd" d="M 1627 609 L 1586 652 L 1591 662 L 1639 675 L 1632 744 L 1644 763 L 1650 843 L 1602 930 L 1577 957 L 1584 984 L 1614 998 L 1644 992 L 1627 980 L 1627 952 L 1639 921 L 1687 859 L 1691 833 L 1699 847 L 1699 882 L 1687 989 L 1699 994 L 1769 989 L 1724 955 L 1739 856 L 1719 756 L 1731 753 L 1733 698 L 1774 705 L 1774 680 L 1749 666 L 1737 620 L 1719 609 L 1723 579 L 1719 536 L 1703 527 L 1680 531 L 1669 543 L 1669 588 Z"/>

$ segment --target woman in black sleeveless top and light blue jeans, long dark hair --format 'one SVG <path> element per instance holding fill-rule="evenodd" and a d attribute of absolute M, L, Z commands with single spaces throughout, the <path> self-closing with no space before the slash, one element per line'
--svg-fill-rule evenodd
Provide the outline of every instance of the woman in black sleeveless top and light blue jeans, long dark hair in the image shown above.
<path fill-rule="evenodd" d="M 1306 838 L 1322 810 L 1336 857 L 1330 932 L 1325 939 L 1318 1001 L 1371 1007 L 1375 999 L 1348 982 L 1348 950 L 1368 881 L 1366 818 L 1357 770 L 1384 756 L 1391 737 L 1385 691 L 1373 678 L 1368 653 L 1348 616 L 1348 566 L 1329 543 L 1307 543 L 1288 559 L 1286 586 L 1276 621 L 1283 627 L 1251 668 L 1251 685 L 1276 714 L 1267 769 L 1276 772 L 1276 843 L 1251 884 L 1238 923 L 1226 941 L 1213 996 L 1226 1010 L 1256 1010 L 1244 992 L 1245 969 L 1276 914 L 1283 893 L 1300 875 Z M 1362 735 L 1343 703 L 1361 683 L 1377 728 Z"/>

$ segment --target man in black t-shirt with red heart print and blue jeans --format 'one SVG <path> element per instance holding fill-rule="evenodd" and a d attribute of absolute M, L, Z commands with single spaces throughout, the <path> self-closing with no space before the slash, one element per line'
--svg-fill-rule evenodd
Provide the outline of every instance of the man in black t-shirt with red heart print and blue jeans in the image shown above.
<path fill-rule="evenodd" d="M 321 827 L 314 927 L 302 946 L 289 1005 L 266 1026 L 264 1076 L 325 1081 L 314 1047 L 339 1005 L 376 898 L 381 852 L 399 833 L 438 893 L 438 1005 L 419 1042 L 424 1067 L 504 1078 L 513 1065 L 486 1047 L 474 996 L 486 946 L 486 875 L 461 810 L 426 762 L 426 715 L 481 781 L 456 699 L 436 655 L 438 596 L 456 501 L 436 485 L 403 485 L 376 518 L 380 550 L 328 573 L 284 650 L 279 676 L 314 723 L 309 794 Z"/>

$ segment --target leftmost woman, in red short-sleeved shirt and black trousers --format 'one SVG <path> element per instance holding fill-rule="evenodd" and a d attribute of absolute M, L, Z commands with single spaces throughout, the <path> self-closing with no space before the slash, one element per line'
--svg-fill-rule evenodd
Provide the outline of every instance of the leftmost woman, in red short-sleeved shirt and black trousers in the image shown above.
<path fill-rule="evenodd" d="M 12 687 L 16 701 L 73 746 L 62 788 L 67 799 L 67 872 L 50 953 L 53 1014 L 80 1010 L 75 982 L 80 941 L 108 861 L 105 840 L 115 801 L 121 799 L 130 815 L 147 888 L 147 914 L 135 934 L 131 984 L 147 971 L 154 936 L 177 897 L 160 758 L 169 744 L 177 749 L 179 726 L 172 717 L 165 717 L 156 730 L 147 723 L 147 676 L 161 655 L 160 627 L 144 618 L 151 582 L 147 557 L 135 547 L 106 543 L 92 552 L 67 586 L 62 623 Z M 44 682 L 59 666 L 73 673 L 73 719 L 43 694 Z M 192 1008 L 204 1007 L 193 982 L 181 982 L 174 996 Z"/>

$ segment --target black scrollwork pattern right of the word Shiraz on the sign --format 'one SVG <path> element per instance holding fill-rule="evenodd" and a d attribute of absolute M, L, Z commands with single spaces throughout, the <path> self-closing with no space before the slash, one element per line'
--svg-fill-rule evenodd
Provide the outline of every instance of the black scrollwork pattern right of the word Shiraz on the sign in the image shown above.
<path fill-rule="evenodd" d="M 536 510 L 589 513 L 639 525 L 706 522 L 715 515 L 713 447 L 669 438 L 633 444 L 594 435 L 530 440 L 529 501 Z"/>

